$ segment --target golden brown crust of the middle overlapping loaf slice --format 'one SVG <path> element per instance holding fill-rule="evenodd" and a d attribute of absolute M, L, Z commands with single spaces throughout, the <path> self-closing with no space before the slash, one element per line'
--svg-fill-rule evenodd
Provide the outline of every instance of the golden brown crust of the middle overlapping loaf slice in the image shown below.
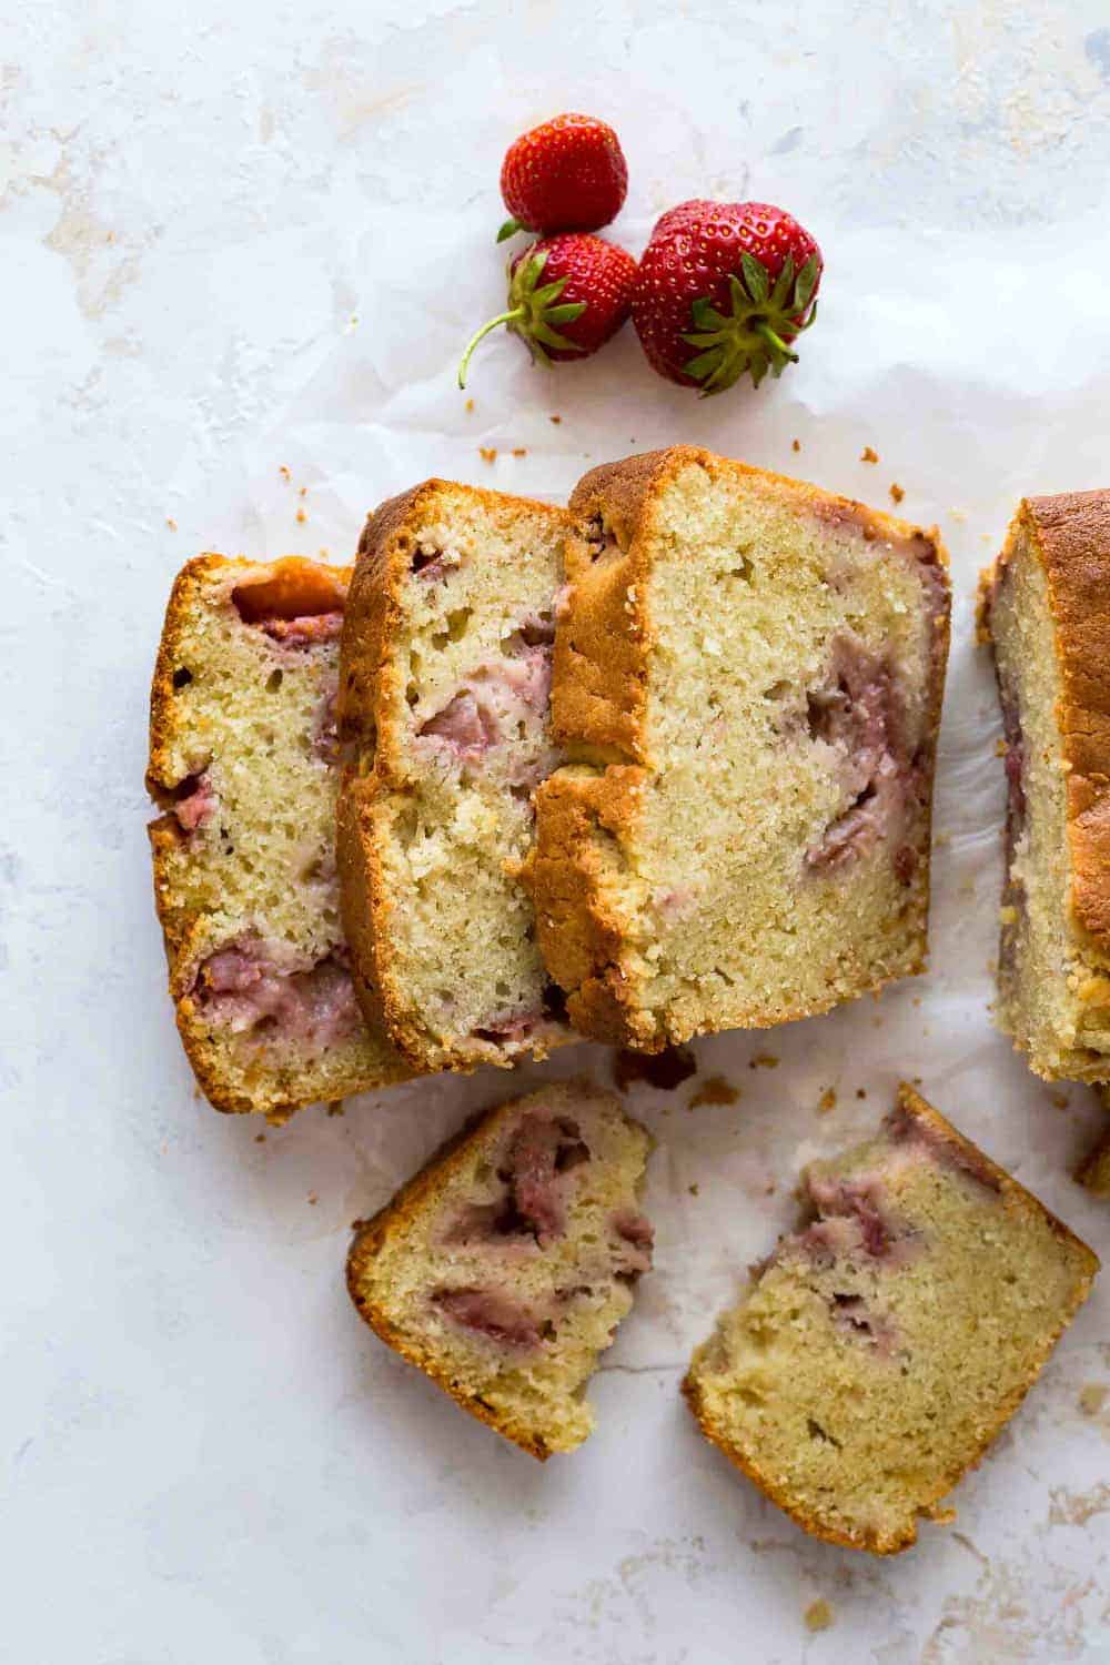
<path fill-rule="evenodd" d="M 393 796 L 408 784 L 406 731 L 394 718 L 404 708 L 404 676 L 393 653 L 404 629 L 403 588 L 421 523 L 443 495 L 476 503 L 488 513 L 562 518 L 562 509 L 529 498 L 426 480 L 389 498 L 368 518 L 358 544 L 339 643 L 339 734 L 356 753 L 343 771 L 336 813 L 336 861 L 343 924 L 359 1004 L 369 1022 L 384 1027 L 398 1051 L 419 1071 L 473 1071 L 479 1064 L 511 1067 L 513 1054 L 494 1042 L 446 1051 L 413 1019 L 398 987 L 389 936 L 393 899 L 383 871 L 383 832 L 394 813 Z M 536 1056 L 543 1056 L 536 1046 Z"/>

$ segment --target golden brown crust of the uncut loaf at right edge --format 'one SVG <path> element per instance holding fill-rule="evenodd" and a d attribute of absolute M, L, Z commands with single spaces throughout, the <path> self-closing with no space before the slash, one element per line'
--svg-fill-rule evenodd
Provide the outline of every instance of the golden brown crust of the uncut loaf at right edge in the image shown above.
<path fill-rule="evenodd" d="M 980 639 L 990 639 L 994 588 L 1022 536 L 1045 569 L 1055 621 L 1072 912 L 1092 946 L 1110 954 L 1110 490 L 1022 498 L 980 579 Z"/>

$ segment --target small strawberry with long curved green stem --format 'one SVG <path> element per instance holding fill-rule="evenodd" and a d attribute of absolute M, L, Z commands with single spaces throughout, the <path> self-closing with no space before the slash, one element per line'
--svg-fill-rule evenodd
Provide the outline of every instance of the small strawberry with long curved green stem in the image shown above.
<path fill-rule="evenodd" d="M 516 255 L 508 271 L 508 311 L 484 323 L 469 341 L 459 365 L 461 388 L 471 353 L 501 323 L 528 341 L 538 363 L 549 365 L 554 358 L 596 353 L 629 315 L 636 261 L 601 236 L 586 231 L 543 236 Z"/>

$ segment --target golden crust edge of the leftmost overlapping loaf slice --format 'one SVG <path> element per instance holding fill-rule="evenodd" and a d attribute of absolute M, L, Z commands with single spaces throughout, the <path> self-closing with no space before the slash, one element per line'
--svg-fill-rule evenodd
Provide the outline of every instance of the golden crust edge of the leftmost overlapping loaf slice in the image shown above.
<path fill-rule="evenodd" d="M 218 941 L 211 934 L 210 909 L 198 907 L 183 894 L 181 854 L 186 841 L 171 808 L 175 788 L 183 774 L 183 756 L 198 739 L 210 749 L 218 736 L 210 731 L 195 734 L 193 719 L 183 711 L 175 674 L 180 674 L 193 656 L 198 614 L 208 604 L 215 604 L 218 596 L 225 596 L 225 591 L 230 596 L 235 586 L 273 584 L 275 579 L 306 581 L 321 586 L 321 593 L 330 589 L 334 606 L 341 609 L 349 576 L 349 568 L 331 568 L 298 556 L 250 561 L 210 551 L 193 558 L 176 574 L 166 603 L 150 693 L 146 791 L 165 813 L 151 821 L 146 831 L 153 859 L 155 909 L 165 941 L 170 996 L 181 1044 L 213 1109 L 228 1114 L 261 1112 L 273 1122 L 281 1122 L 323 1097 L 333 1101 L 406 1081 L 413 1071 L 384 1036 L 371 1031 L 358 1037 L 353 1046 L 343 1047 L 351 1057 L 349 1066 L 341 1071 L 280 1066 L 273 1057 L 261 1057 L 256 1067 L 248 1071 L 228 1067 L 226 1049 L 213 1039 L 193 997 L 198 962 L 218 947 Z"/>

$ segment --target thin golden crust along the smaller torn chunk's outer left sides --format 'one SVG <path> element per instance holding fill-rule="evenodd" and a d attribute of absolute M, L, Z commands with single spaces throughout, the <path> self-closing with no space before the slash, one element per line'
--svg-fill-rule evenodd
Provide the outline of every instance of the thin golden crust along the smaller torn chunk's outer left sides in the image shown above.
<path fill-rule="evenodd" d="M 614 1109 L 621 1112 L 624 1121 L 639 1127 L 646 1137 L 647 1131 L 629 1116 L 619 1099 L 611 1094 L 594 1087 L 584 1079 L 569 1081 L 559 1084 L 559 1087 L 549 1087 L 548 1092 L 566 1094 L 567 1101 L 572 1101 L 576 1092 L 589 1092 L 592 1099 L 607 1099 Z M 471 1417 L 484 1422 L 488 1427 L 494 1429 L 504 1439 L 519 1445 L 531 1457 L 538 1457 L 539 1462 L 546 1462 L 551 1457 L 551 1449 L 544 1442 L 543 1435 L 534 1430 L 519 1427 L 511 1417 L 499 1412 L 494 1405 L 486 1404 L 481 1397 L 468 1392 L 459 1382 L 456 1382 L 443 1362 L 428 1349 L 418 1345 L 404 1330 L 398 1329 L 396 1324 L 388 1317 L 378 1302 L 363 1289 L 364 1270 L 369 1262 L 376 1259 L 381 1252 L 386 1239 L 409 1225 L 419 1214 L 428 1207 L 433 1207 L 444 1190 L 446 1184 L 453 1174 L 463 1167 L 481 1141 L 484 1141 L 489 1132 L 501 1121 L 508 1121 L 518 1114 L 521 1099 L 511 1099 L 508 1104 L 494 1106 L 489 1111 L 476 1111 L 468 1121 L 459 1127 L 458 1132 L 451 1134 L 438 1151 L 428 1157 L 424 1166 L 414 1174 L 398 1194 L 378 1210 L 369 1220 L 358 1222 L 351 1247 L 346 1259 L 346 1287 L 359 1317 L 369 1324 L 381 1340 L 393 1347 L 403 1359 L 423 1370 L 424 1375 L 441 1387 L 451 1399 L 468 1410 Z"/>

